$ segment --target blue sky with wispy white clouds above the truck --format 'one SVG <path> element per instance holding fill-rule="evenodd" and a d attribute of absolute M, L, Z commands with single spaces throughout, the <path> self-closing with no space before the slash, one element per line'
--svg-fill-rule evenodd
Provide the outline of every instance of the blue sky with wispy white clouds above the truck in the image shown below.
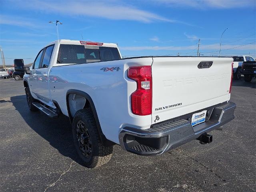
<path fill-rule="evenodd" d="M 57 39 L 118 43 L 122 56 L 249 54 L 256 57 L 256 0 L 0 1 L 6 64 L 33 62 Z M 81 36 L 82 34 L 82 36 Z M 236 48 L 235 48 L 236 47 Z M 2 61 L 1 61 L 2 64 Z"/>

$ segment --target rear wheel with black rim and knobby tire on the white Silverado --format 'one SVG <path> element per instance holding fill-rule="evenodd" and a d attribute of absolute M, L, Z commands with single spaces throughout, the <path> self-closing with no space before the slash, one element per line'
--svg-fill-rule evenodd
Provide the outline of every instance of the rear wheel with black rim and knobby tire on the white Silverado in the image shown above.
<path fill-rule="evenodd" d="M 98 128 L 90 109 L 80 109 L 76 112 L 72 124 L 74 145 L 82 165 L 96 168 L 109 162 L 113 146 L 104 147 L 100 140 Z"/>

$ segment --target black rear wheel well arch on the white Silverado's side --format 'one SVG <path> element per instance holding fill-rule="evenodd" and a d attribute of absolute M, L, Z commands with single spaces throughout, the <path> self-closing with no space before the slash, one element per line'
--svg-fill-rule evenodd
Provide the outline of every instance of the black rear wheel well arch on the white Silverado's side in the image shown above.
<path fill-rule="evenodd" d="M 83 92 L 81 90 L 71 89 L 71 90 L 68 90 L 67 93 L 66 93 L 66 105 L 67 105 L 67 110 L 68 110 L 68 117 L 70 119 L 71 124 L 73 123 L 72 113 L 74 114 L 74 112 L 70 111 L 69 102 L 70 102 L 70 95 L 71 94 L 72 94 L 72 96 L 74 96 L 74 95 L 81 96 L 81 97 L 78 97 L 79 100 L 80 100 L 80 102 L 78 102 L 78 104 L 82 104 L 83 108 L 90 108 L 92 110 L 92 114 L 93 114 L 94 119 L 96 121 L 96 125 L 97 125 L 97 128 L 98 128 L 98 132 L 100 134 L 100 139 L 102 141 L 103 146 L 106 146 L 106 147 L 107 146 L 113 146 L 114 142 L 108 140 L 102 132 L 102 129 L 101 129 L 101 126 L 100 126 L 100 121 L 98 119 L 98 114 L 97 114 L 96 108 L 94 106 L 94 102 L 92 101 L 92 98 L 90 97 L 89 94 L 87 94 L 86 92 Z M 82 102 L 83 98 L 85 98 L 84 104 Z"/>

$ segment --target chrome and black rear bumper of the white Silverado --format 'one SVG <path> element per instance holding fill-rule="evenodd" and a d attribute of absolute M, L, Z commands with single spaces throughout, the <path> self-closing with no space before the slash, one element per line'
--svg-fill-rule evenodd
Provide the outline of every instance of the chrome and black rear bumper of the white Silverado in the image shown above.
<path fill-rule="evenodd" d="M 138 155 L 162 154 L 231 121 L 234 119 L 235 108 L 236 104 L 233 102 L 207 108 L 209 117 L 194 127 L 191 126 L 188 117 L 195 112 L 154 124 L 146 130 L 124 127 L 119 134 L 120 146 Z"/>

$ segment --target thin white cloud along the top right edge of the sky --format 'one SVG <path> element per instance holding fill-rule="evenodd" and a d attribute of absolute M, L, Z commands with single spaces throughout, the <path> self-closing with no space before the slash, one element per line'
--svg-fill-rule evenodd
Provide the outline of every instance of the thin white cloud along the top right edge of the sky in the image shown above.
<path fill-rule="evenodd" d="M 157 4 L 162 3 L 172 7 L 192 7 L 199 9 L 220 8 L 231 9 L 240 7 L 255 8 L 255 0 L 157 0 Z"/>

